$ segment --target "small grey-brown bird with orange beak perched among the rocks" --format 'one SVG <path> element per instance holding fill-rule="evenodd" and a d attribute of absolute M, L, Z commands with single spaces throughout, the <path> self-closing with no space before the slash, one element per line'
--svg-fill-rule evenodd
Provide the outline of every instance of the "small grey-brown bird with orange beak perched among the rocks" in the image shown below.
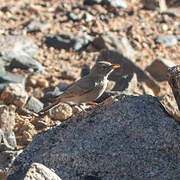
<path fill-rule="evenodd" d="M 43 115 L 45 112 L 58 106 L 60 102 L 74 102 L 80 105 L 81 103 L 96 100 L 105 91 L 108 83 L 107 78 L 110 73 L 119 67 L 119 64 L 98 61 L 87 76 L 68 86 L 62 94 L 55 97 L 56 101 L 54 103 L 43 108 L 38 114 Z"/>

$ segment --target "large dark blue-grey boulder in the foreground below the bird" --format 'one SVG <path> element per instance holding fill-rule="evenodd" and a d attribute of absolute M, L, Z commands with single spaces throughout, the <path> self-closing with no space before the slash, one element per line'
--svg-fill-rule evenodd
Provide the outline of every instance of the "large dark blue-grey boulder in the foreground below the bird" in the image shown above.
<path fill-rule="evenodd" d="M 179 134 L 179 123 L 155 97 L 124 96 L 36 136 L 8 180 L 22 180 L 33 162 L 63 180 L 179 179 Z"/>

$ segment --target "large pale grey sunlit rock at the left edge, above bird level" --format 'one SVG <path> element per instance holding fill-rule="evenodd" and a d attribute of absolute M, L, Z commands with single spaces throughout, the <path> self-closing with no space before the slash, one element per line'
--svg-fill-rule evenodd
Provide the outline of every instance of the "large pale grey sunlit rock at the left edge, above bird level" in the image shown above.
<path fill-rule="evenodd" d="M 26 36 L 9 35 L 0 38 L 1 59 L 10 62 L 9 68 L 22 68 L 44 73 L 41 64 L 34 59 L 37 51 L 37 45 Z"/>

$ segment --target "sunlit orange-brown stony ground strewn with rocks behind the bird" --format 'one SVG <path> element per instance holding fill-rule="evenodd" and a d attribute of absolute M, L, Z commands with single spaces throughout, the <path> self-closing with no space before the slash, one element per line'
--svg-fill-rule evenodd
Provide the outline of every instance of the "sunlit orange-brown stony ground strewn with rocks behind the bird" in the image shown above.
<path fill-rule="evenodd" d="M 0 151 L 17 153 L 36 134 L 77 114 L 61 104 L 34 116 L 97 60 L 121 65 L 98 102 L 151 94 L 179 120 L 166 74 L 179 64 L 179 2 L 167 1 L 167 7 L 161 12 L 147 0 L 1 0 Z"/>

